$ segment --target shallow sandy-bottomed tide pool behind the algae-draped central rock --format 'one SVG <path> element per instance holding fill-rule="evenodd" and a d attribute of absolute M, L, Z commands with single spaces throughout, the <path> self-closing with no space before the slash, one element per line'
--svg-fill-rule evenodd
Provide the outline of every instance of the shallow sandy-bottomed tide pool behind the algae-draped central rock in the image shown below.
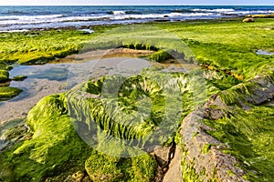
<path fill-rule="evenodd" d="M 0 102 L 0 124 L 15 118 L 26 117 L 27 112 L 44 96 L 63 93 L 73 86 L 86 82 L 90 78 L 101 76 L 132 76 L 139 74 L 143 68 L 158 66 L 166 72 L 187 72 L 196 69 L 194 64 L 158 64 L 138 58 L 140 51 L 120 54 L 112 51 L 109 55 L 98 56 L 85 53 L 75 59 L 71 56 L 63 61 L 39 66 L 14 66 L 10 77 L 27 76 L 24 81 L 12 81 L 10 86 L 24 91 L 15 98 Z M 97 54 L 97 55 L 96 55 Z M 132 57 L 130 57 L 132 56 Z M 70 60 L 70 61 L 69 61 Z"/>

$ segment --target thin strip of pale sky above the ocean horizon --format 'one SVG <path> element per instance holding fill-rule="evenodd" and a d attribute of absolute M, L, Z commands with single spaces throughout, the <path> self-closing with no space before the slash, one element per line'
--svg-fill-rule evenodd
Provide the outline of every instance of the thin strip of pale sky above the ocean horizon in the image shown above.
<path fill-rule="evenodd" d="M 274 0 L 0 0 L 0 5 L 274 5 Z"/>

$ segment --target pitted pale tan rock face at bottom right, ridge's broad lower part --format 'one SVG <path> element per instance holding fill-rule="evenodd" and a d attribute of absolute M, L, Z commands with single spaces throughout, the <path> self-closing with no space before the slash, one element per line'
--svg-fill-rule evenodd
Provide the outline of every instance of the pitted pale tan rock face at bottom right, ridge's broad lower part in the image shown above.
<path fill-rule="evenodd" d="M 200 122 L 204 112 L 195 110 L 184 117 L 181 126 L 183 181 L 189 177 L 194 181 L 210 181 L 212 178 L 216 181 L 247 181 L 242 177 L 245 172 L 237 167 L 236 157 L 224 154 L 222 148 L 225 145 L 205 133 L 208 126 Z M 235 176 L 229 176 L 227 171 L 232 171 Z"/>

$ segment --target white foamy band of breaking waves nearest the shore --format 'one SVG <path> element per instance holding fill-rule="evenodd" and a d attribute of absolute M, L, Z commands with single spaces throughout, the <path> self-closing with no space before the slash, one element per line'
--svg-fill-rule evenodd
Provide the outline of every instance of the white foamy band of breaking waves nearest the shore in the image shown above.
<path fill-rule="evenodd" d="M 192 11 L 192 12 L 191 12 Z M 173 13 L 161 13 L 160 11 L 146 14 L 136 14 L 129 11 L 109 11 L 100 12 L 100 14 L 86 14 L 79 13 L 78 15 L 68 14 L 60 12 L 56 15 L 0 15 L 0 30 L 11 30 L 11 29 L 28 29 L 40 26 L 65 26 L 65 25 L 100 25 L 100 24 L 111 24 L 111 23 L 134 23 L 144 22 L 146 19 L 166 19 L 166 20 L 184 20 L 184 19 L 195 19 L 196 18 L 214 18 L 222 17 L 224 15 L 254 15 L 254 14 L 273 14 L 273 9 L 232 9 L 232 8 L 216 8 L 216 9 L 191 9 L 190 13 L 187 12 L 173 12 Z"/>

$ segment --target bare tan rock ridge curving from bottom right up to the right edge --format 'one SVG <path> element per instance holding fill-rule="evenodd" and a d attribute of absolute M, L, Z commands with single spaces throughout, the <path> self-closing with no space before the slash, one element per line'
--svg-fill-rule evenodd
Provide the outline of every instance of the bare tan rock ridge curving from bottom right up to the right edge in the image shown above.
<path fill-rule="evenodd" d="M 180 131 L 182 160 L 172 161 L 174 166 L 182 162 L 182 178 L 179 181 L 247 181 L 246 171 L 240 167 L 237 158 L 223 152 L 227 145 L 210 136 L 206 131 L 213 128 L 206 126 L 202 120 L 216 120 L 227 116 L 235 106 L 248 109 L 249 105 L 259 105 L 273 97 L 271 76 L 255 76 L 211 96 L 203 108 L 184 117 Z M 170 167 L 164 179 L 179 175 L 181 171 L 178 168 Z"/>

